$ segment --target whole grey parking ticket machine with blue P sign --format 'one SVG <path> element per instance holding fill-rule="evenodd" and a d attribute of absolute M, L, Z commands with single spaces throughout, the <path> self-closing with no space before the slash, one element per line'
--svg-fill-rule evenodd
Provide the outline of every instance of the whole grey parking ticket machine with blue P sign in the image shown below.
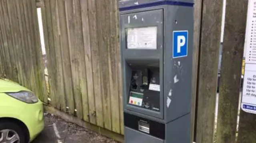
<path fill-rule="evenodd" d="M 189 143 L 193 0 L 119 0 L 126 143 Z"/>

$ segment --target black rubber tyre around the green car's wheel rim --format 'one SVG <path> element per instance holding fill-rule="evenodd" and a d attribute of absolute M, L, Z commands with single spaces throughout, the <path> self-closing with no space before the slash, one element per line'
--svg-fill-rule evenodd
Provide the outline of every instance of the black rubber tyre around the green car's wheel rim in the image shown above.
<path fill-rule="evenodd" d="M 17 125 L 14 122 L 10 122 L 10 121 L 3 121 L 2 123 L 0 123 L 0 131 L 3 130 L 12 130 L 15 131 L 17 133 L 17 135 L 20 138 L 20 143 L 26 143 L 26 135 L 25 135 L 25 131 L 23 131 L 22 127 L 20 127 L 19 125 Z M 0 133 L 0 138 L 1 138 L 2 133 Z"/>

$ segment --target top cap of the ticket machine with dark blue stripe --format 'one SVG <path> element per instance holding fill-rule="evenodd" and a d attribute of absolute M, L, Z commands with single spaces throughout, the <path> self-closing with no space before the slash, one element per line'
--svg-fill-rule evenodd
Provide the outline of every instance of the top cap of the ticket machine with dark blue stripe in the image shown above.
<path fill-rule="evenodd" d="M 194 6 L 194 0 L 118 0 L 119 11 L 148 8 L 152 6 L 174 5 Z"/>

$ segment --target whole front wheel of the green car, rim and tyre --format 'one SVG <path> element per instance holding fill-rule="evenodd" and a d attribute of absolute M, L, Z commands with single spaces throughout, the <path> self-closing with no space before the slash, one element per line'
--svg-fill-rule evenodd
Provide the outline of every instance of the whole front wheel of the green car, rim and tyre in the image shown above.
<path fill-rule="evenodd" d="M 16 123 L 0 123 L 0 143 L 25 143 L 24 131 Z"/>

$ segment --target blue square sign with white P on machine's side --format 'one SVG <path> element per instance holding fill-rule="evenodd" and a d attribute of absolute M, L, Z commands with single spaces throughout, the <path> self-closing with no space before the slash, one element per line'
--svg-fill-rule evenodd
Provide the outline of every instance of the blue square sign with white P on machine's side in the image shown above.
<path fill-rule="evenodd" d="M 188 31 L 173 31 L 172 57 L 188 56 Z"/>

